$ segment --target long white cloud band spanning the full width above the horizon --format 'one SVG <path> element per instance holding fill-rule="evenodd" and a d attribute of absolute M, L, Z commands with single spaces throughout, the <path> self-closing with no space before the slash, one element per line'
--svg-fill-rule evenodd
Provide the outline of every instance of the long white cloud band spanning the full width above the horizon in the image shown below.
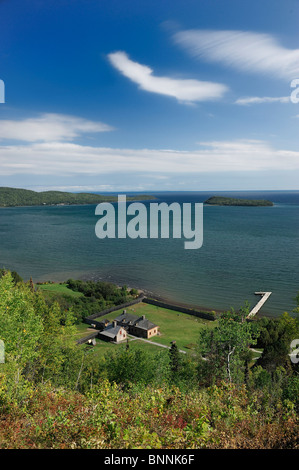
<path fill-rule="evenodd" d="M 0 174 L 200 175 L 213 172 L 299 170 L 299 152 L 259 140 L 202 142 L 194 151 L 113 149 L 49 142 L 0 147 Z"/>

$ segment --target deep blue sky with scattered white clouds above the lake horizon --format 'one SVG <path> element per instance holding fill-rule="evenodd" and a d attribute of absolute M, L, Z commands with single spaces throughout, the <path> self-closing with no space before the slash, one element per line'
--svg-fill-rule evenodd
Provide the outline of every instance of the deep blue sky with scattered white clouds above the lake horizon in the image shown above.
<path fill-rule="evenodd" d="M 298 19 L 298 0 L 0 1 L 0 185 L 299 189 Z"/>

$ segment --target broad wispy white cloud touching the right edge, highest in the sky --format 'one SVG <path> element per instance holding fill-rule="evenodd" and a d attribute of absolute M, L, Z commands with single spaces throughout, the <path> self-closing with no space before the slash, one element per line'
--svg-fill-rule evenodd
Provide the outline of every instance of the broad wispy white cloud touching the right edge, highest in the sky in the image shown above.
<path fill-rule="evenodd" d="M 299 49 L 287 49 L 270 34 L 247 31 L 187 30 L 174 41 L 193 56 L 244 72 L 291 80 L 299 76 Z"/>

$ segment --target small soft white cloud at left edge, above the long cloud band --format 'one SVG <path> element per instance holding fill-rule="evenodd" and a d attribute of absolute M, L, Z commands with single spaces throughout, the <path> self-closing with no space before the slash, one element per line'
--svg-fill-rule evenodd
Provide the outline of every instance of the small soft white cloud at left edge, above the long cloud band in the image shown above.
<path fill-rule="evenodd" d="M 83 133 L 106 132 L 112 127 L 101 122 L 63 114 L 44 113 L 19 121 L 0 120 L 0 140 L 26 142 L 73 140 Z"/>

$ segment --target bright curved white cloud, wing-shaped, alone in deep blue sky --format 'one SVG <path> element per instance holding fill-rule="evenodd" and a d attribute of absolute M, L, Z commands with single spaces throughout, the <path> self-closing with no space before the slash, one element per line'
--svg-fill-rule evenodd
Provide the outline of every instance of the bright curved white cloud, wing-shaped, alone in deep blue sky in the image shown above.
<path fill-rule="evenodd" d="M 219 99 L 227 91 L 227 87 L 220 83 L 157 77 L 151 68 L 133 62 L 125 52 L 111 53 L 108 58 L 119 72 L 137 83 L 142 90 L 172 96 L 178 101 L 192 103 Z"/>

